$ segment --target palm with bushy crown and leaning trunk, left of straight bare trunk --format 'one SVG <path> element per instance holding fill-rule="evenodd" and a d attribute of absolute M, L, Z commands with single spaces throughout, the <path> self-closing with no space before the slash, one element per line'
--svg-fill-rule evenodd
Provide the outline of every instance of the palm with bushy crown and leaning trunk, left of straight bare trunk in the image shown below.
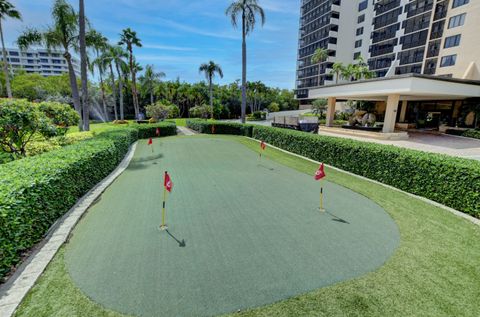
<path fill-rule="evenodd" d="M 45 45 L 48 49 L 62 48 L 63 57 L 67 61 L 70 87 L 72 89 L 73 106 L 82 118 L 82 106 L 78 92 L 77 76 L 73 68 L 72 55 L 70 51 L 77 48 L 78 43 L 78 14 L 73 7 L 65 0 L 55 0 L 52 8 L 53 25 L 45 30 L 27 29 L 17 40 L 21 50 L 26 50 L 31 45 Z M 79 128 L 83 128 L 80 120 Z"/>

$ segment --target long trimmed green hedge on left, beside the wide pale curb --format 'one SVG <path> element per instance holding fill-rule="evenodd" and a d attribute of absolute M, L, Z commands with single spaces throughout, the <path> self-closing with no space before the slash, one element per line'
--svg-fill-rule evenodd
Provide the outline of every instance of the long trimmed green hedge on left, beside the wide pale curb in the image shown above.
<path fill-rule="evenodd" d="M 0 280 L 75 203 L 110 174 L 139 137 L 171 123 L 108 129 L 92 139 L 0 166 Z"/>

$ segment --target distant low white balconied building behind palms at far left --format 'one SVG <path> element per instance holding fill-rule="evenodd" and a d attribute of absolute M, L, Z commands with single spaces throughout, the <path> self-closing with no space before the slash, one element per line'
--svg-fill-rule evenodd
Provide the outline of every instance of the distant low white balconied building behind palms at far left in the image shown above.
<path fill-rule="evenodd" d="M 0 56 L 3 61 L 3 55 Z M 19 49 L 7 48 L 7 59 L 11 71 L 22 69 L 27 73 L 38 73 L 42 76 L 55 76 L 68 73 L 67 61 L 60 51 L 48 51 L 46 49 L 21 51 Z M 79 61 L 76 58 L 72 58 L 72 63 L 75 72 L 79 75 Z"/>

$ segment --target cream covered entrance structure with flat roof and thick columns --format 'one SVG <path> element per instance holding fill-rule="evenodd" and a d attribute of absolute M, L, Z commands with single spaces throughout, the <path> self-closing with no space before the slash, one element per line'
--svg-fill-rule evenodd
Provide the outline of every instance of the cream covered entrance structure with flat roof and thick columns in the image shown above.
<path fill-rule="evenodd" d="M 480 81 L 407 74 L 310 90 L 309 99 L 323 98 L 328 99 L 327 126 L 333 125 L 337 101 L 368 100 L 376 101 L 382 112 L 384 133 L 393 133 L 396 126 L 409 128 L 415 123 L 418 127 L 424 116 L 430 116 L 429 122 L 438 121 L 438 125 L 455 126 L 460 122 L 473 127 L 472 121 L 476 121 L 471 114 L 475 116 L 475 111 L 468 112 L 468 122 L 462 116 L 465 109 L 480 107 Z"/>

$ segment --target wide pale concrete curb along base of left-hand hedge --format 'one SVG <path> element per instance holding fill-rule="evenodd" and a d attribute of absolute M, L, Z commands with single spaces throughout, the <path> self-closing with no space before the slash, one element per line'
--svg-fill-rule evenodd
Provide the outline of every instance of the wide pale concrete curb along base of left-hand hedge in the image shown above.
<path fill-rule="evenodd" d="M 118 165 L 105 179 L 92 188 L 77 201 L 61 219 L 49 230 L 49 233 L 37 249 L 19 267 L 13 276 L 0 288 L 0 316 L 10 317 L 14 314 L 28 291 L 53 259 L 58 249 L 67 241 L 70 232 L 82 218 L 92 203 L 120 176 L 130 164 L 138 142 L 130 149 Z"/>

